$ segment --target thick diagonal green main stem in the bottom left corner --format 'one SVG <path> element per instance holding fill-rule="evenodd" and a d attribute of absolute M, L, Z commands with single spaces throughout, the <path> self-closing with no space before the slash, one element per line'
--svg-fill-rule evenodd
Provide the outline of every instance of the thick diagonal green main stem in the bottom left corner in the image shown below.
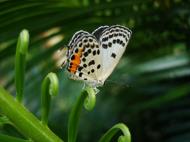
<path fill-rule="evenodd" d="M 1 86 L 0 110 L 27 138 L 35 142 L 63 142 Z"/>

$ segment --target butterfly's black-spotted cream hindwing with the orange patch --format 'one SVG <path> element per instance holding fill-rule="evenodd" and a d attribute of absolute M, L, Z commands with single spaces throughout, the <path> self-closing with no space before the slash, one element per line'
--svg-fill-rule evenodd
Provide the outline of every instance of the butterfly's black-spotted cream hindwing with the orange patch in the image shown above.
<path fill-rule="evenodd" d="M 100 74 L 100 46 L 93 35 L 83 35 L 73 44 L 67 70 L 77 80 L 94 82 Z"/>

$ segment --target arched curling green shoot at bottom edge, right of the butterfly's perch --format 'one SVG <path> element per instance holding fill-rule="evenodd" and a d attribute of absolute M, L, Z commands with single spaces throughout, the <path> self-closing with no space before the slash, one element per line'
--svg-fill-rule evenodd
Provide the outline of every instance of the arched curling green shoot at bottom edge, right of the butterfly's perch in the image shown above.
<path fill-rule="evenodd" d="M 131 134 L 127 126 L 123 123 L 114 125 L 99 140 L 99 142 L 110 142 L 113 136 L 121 130 L 123 135 L 119 137 L 118 142 L 131 142 Z"/>

